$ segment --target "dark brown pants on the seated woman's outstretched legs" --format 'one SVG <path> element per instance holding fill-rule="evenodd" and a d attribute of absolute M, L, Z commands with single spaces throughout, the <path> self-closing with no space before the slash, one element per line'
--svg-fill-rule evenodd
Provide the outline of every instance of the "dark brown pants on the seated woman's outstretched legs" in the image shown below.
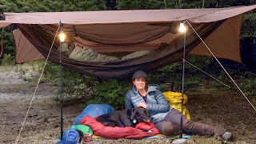
<path fill-rule="evenodd" d="M 155 126 L 161 134 L 178 135 L 181 131 L 181 116 L 182 116 L 182 131 L 186 134 L 199 134 L 210 136 L 221 136 L 225 130 L 221 130 L 215 126 L 209 126 L 199 122 L 192 122 L 186 118 L 181 112 L 174 108 L 160 122 L 156 122 Z"/>

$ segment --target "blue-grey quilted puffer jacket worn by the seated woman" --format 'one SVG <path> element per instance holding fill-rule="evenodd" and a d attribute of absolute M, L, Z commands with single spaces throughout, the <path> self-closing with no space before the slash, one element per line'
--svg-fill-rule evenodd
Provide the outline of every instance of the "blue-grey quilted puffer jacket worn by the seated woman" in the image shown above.
<path fill-rule="evenodd" d="M 138 106 L 139 102 L 145 102 L 135 86 L 126 94 L 126 109 L 131 109 Z M 158 90 L 158 86 L 149 86 L 146 95 L 146 109 L 149 111 L 153 122 L 162 121 L 166 114 L 170 111 L 169 102 Z"/>

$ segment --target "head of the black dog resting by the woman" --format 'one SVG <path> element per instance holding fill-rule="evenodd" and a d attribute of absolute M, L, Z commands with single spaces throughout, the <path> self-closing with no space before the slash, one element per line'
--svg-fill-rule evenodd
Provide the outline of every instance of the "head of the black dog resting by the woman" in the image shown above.
<path fill-rule="evenodd" d="M 143 107 L 137 107 L 132 109 L 130 119 L 134 122 L 151 122 L 151 116 L 149 112 Z"/>

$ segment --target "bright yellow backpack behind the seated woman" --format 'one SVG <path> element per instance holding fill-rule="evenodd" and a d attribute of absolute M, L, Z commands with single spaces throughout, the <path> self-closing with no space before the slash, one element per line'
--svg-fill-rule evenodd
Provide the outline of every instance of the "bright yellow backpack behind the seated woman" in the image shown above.
<path fill-rule="evenodd" d="M 183 94 L 183 98 L 184 98 L 183 109 L 182 109 L 182 93 L 167 91 L 162 94 L 166 97 L 166 100 L 170 103 L 171 107 L 173 107 L 176 110 L 182 111 L 182 114 L 185 115 L 186 118 L 190 119 L 189 110 L 187 110 L 185 105 L 188 101 L 186 94 Z"/>

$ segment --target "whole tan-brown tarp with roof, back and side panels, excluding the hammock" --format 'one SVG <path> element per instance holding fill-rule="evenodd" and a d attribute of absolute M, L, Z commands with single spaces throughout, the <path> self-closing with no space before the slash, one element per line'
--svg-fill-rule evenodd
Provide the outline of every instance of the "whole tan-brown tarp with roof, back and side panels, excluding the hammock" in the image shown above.
<path fill-rule="evenodd" d="M 177 33 L 178 22 L 181 21 L 187 20 L 192 26 L 198 26 L 205 22 L 226 20 L 204 40 L 218 58 L 241 62 L 239 38 L 242 14 L 255 8 L 254 5 L 218 9 L 4 13 L 6 20 L 0 20 L 0 27 L 12 23 L 37 24 L 54 34 L 58 23 L 62 22 L 64 31 L 78 42 L 100 53 L 111 53 L 154 51 L 160 43 L 173 42 L 181 35 Z M 27 40 L 17 42 L 26 39 L 24 35 L 14 33 L 14 37 L 18 57 L 16 62 L 42 58 L 42 54 Z M 190 54 L 211 56 L 202 42 Z"/>

